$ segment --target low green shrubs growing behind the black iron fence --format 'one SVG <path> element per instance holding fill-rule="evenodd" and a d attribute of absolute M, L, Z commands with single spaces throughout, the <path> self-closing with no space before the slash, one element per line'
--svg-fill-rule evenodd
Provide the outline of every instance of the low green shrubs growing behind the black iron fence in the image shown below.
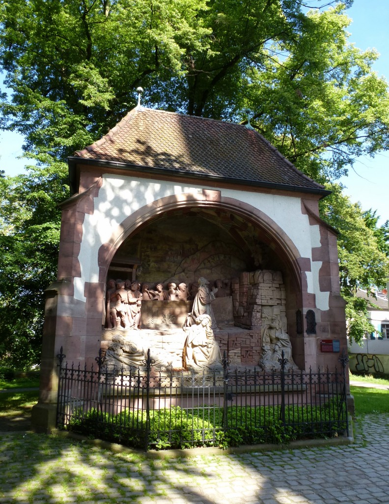
<path fill-rule="evenodd" d="M 280 406 L 217 406 L 185 410 L 179 406 L 145 411 L 122 412 L 112 416 L 95 408 L 79 408 L 70 417 L 67 429 L 123 445 L 148 449 L 288 443 L 293 439 L 337 436 L 346 428 L 344 403 L 332 400 L 321 406 L 285 408 L 285 424 Z M 148 435 L 147 435 L 148 431 Z"/>

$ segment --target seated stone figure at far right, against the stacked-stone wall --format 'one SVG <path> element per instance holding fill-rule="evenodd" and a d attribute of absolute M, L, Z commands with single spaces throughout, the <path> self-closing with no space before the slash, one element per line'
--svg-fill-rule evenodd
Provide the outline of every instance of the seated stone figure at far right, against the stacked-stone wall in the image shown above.
<path fill-rule="evenodd" d="M 273 307 L 263 312 L 262 335 L 262 358 L 261 364 L 266 368 L 280 367 L 279 359 L 284 352 L 284 358 L 288 360 L 288 367 L 296 367 L 292 358 L 292 345 L 290 338 L 282 328 L 281 317 Z"/>

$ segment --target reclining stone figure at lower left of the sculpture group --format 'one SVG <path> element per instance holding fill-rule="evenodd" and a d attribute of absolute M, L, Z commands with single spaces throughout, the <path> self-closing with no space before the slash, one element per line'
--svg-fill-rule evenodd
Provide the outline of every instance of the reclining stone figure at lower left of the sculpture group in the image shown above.
<path fill-rule="evenodd" d="M 147 346 L 148 347 L 148 346 Z M 128 372 L 144 369 L 146 366 L 146 352 L 140 340 L 134 335 L 113 334 L 112 342 L 108 346 L 105 354 L 104 365 L 109 372 Z M 168 353 L 159 352 L 150 348 L 150 357 L 155 369 L 170 369 L 172 365 L 172 356 Z"/>

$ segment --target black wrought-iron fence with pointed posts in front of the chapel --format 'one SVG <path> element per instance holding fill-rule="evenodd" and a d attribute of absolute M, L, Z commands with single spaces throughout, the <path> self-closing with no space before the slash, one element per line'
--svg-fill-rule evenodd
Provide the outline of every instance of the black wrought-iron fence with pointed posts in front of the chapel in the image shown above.
<path fill-rule="evenodd" d="M 57 427 L 148 449 L 287 443 L 348 435 L 347 356 L 341 369 L 313 372 L 256 368 L 204 373 L 115 372 L 69 367 L 59 354 Z"/>

